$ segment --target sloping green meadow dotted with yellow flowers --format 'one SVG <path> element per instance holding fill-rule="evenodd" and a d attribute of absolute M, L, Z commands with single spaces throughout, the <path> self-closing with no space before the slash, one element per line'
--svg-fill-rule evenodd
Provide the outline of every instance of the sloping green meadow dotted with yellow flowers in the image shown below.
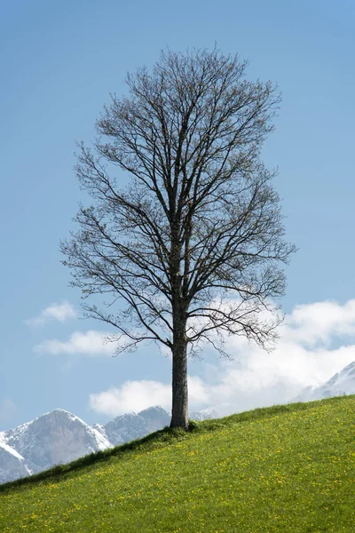
<path fill-rule="evenodd" d="M 0 487 L 0 531 L 353 533 L 355 396 L 169 429 Z"/>

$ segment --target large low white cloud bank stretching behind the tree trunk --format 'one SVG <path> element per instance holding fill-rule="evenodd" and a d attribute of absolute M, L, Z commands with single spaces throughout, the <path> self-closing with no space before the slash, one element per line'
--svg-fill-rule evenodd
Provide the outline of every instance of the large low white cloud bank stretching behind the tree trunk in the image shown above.
<path fill-rule="evenodd" d="M 232 362 L 201 362 L 205 379 L 189 377 L 190 410 L 214 406 L 221 415 L 292 400 L 305 386 L 318 386 L 355 361 L 355 300 L 343 306 L 316 302 L 286 316 L 276 349 L 268 354 L 245 338 L 227 339 Z M 331 342 L 342 340 L 331 348 Z M 346 342 L 345 342 L 346 341 Z M 161 404 L 170 410 L 170 384 L 128 381 L 91 394 L 93 410 L 115 416 Z"/>

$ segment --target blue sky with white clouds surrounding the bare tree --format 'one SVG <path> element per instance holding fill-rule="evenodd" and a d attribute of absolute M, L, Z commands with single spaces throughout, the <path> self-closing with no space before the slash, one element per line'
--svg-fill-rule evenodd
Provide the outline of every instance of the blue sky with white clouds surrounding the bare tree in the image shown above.
<path fill-rule="evenodd" d="M 250 61 L 248 78 L 278 82 L 283 103 L 263 158 L 280 168 L 288 239 L 300 247 L 282 302 L 288 346 L 268 356 L 235 340 L 232 366 L 213 354 L 192 362 L 193 405 L 244 407 L 246 372 L 254 399 L 279 401 L 355 360 L 354 23 L 351 0 L 2 3 L 0 430 L 57 407 L 92 423 L 169 402 L 170 360 L 154 346 L 115 359 L 92 347 L 109 330 L 75 318 L 80 294 L 59 254 L 83 199 L 75 140 L 93 139 L 109 93 L 124 92 L 126 72 L 152 66 L 166 46 L 217 41 Z M 239 400 L 222 398 L 233 387 Z"/>

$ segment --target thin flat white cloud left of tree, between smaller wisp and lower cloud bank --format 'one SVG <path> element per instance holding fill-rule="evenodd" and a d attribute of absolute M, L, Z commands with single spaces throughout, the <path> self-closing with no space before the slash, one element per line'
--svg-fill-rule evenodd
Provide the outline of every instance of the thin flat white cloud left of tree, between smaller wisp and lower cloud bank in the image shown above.
<path fill-rule="evenodd" d="M 58 338 L 43 340 L 35 346 L 34 352 L 52 355 L 110 356 L 114 354 L 115 344 L 105 342 L 108 335 L 108 333 L 96 330 L 75 331 L 67 340 Z"/>

